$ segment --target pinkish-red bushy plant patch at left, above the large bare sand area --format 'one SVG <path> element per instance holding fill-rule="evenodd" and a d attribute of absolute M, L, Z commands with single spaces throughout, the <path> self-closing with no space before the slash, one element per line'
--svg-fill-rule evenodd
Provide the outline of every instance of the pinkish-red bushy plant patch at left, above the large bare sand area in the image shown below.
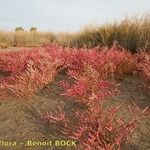
<path fill-rule="evenodd" d="M 0 96 L 28 99 L 51 82 L 64 65 L 59 55 L 52 55 L 54 51 L 52 47 L 49 51 L 38 48 L 1 53 L 0 73 L 4 75 L 0 76 Z"/>

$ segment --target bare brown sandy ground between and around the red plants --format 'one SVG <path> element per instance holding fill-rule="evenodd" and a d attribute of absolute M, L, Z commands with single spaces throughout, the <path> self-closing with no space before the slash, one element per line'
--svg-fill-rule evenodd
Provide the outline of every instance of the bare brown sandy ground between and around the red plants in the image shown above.
<path fill-rule="evenodd" d="M 57 131 L 42 122 L 41 112 L 56 108 L 57 106 L 70 107 L 65 98 L 60 96 L 58 82 L 64 79 L 58 75 L 47 90 L 42 90 L 34 99 L 25 102 L 22 100 L 7 99 L 0 102 L 0 145 L 2 141 L 17 141 L 17 146 L 0 146 L 0 150 L 73 150 L 73 148 L 58 147 L 29 147 L 25 146 L 28 140 L 51 141 L 61 140 Z M 128 103 L 134 100 L 141 108 L 150 106 L 150 93 L 138 88 L 140 80 L 135 77 L 126 77 L 119 87 L 121 94 L 115 97 L 118 101 L 125 100 Z M 130 101 L 129 101 L 130 100 Z M 128 115 L 128 114 L 127 114 Z M 150 118 L 141 121 L 140 127 L 134 134 L 132 144 L 124 145 L 123 150 L 150 150 Z"/>

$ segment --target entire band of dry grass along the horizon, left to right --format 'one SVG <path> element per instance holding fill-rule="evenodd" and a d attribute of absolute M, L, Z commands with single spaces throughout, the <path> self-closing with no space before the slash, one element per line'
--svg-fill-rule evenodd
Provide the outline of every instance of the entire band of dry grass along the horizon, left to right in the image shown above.
<path fill-rule="evenodd" d="M 122 22 L 105 24 L 100 27 L 86 27 L 76 33 L 0 32 L 0 47 L 39 46 L 56 42 L 67 47 L 87 47 L 108 45 L 114 41 L 136 52 L 140 48 L 150 50 L 150 15 L 125 18 Z"/>

